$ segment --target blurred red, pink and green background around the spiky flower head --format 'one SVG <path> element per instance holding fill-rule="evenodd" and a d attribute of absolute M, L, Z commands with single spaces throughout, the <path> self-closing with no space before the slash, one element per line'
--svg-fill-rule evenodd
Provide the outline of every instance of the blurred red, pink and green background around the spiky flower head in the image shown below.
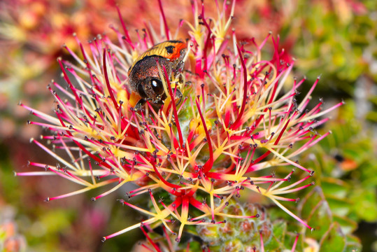
<path fill-rule="evenodd" d="M 117 3 L 131 37 L 136 37 L 136 29 L 142 29 L 144 23 L 159 29 L 157 0 Z M 190 1 L 164 0 L 163 4 L 171 30 L 178 27 L 181 18 L 192 20 Z M 206 8 L 207 16 L 211 12 L 216 15 L 215 8 Z M 280 35 L 281 48 L 296 59 L 294 73 L 298 78 L 306 76 L 310 84 L 307 88 L 304 85 L 301 93 L 321 76 L 312 97 L 324 98 L 327 106 L 342 99 L 346 102 L 322 129 L 333 134 L 300 162 L 315 169 L 315 181 L 332 214 L 359 237 L 363 251 L 377 251 L 376 24 L 375 0 L 239 0 L 233 22 L 239 39 L 255 37 L 260 43 L 269 31 Z M 46 86 L 52 78 L 63 82 L 56 58 L 70 56 L 62 45 L 78 51 L 73 33 L 84 42 L 103 33 L 115 38 L 111 25 L 120 27 L 113 1 L 0 1 L 3 251 L 128 251 L 143 239 L 141 231 L 135 230 L 101 243 L 102 236 L 141 219 L 138 213 L 115 204 L 124 197 L 122 192 L 97 202 L 90 199 L 99 192 L 46 203 L 45 197 L 71 192 L 74 185 L 52 176 L 13 175 L 27 171 L 28 160 L 50 159 L 29 144 L 29 139 L 42 131 L 26 124 L 30 115 L 17 103 L 52 113 L 52 97 Z"/>

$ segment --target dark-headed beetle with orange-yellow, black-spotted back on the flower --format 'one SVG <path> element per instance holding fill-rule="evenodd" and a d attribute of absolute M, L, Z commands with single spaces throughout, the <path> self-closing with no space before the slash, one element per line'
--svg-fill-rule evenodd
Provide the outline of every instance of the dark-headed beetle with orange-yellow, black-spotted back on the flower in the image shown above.
<path fill-rule="evenodd" d="M 183 71 L 186 49 L 187 45 L 182 41 L 164 41 L 143 52 L 129 67 L 129 87 L 132 92 L 136 92 L 141 97 L 135 105 L 136 111 L 142 109 L 147 101 L 154 104 L 164 103 L 166 94 L 159 76 L 157 62 L 159 66 L 165 66 L 167 76 L 171 78 L 172 72 Z M 176 98 L 179 102 L 182 97 L 182 92 L 177 89 Z"/>

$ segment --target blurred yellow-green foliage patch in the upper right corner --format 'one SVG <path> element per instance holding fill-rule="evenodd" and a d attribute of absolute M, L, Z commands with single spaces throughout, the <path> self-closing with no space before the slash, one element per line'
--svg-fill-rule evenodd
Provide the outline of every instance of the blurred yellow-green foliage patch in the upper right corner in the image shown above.
<path fill-rule="evenodd" d="M 281 34 L 287 43 L 294 41 L 292 55 L 298 59 L 299 72 L 309 80 L 319 75 L 325 79 L 316 90 L 318 94 L 341 90 L 353 95 L 360 76 L 377 80 L 376 71 L 370 67 L 377 58 L 377 29 L 372 13 L 376 4 L 363 2 L 365 8 L 362 3 L 350 1 L 336 5 L 328 1 L 299 1 L 294 18 L 282 27 Z"/>

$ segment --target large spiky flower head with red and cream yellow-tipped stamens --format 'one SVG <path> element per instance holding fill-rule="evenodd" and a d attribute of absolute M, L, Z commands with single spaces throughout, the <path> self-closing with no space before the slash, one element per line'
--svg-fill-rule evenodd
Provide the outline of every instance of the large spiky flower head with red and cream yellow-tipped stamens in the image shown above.
<path fill-rule="evenodd" d="M 258 218 L 251 211 L 228 210 L 234 197 L 249 193 L 268 198 L 311 229 L 283 202 L 296 202 L 289 194 L 313 185 L 313 171 L 295 158 L 329 134 L 315 132 L 327 121 L 318 118 L 341 103 L 322 111 L 320 101 L 306 109 L 319 78 L 297 102 L 296 90 L 304 79 L 292 80 L 294 62 L 278 50 L 278 37 L 268 34 L 258 45 L 254 39 L 241 43 L 234 31 L 229 32 L 234 1 L 218 6 L 218 18 L 208 18 L 204 5 L 196 1 L 192 10 L 194 22 L 181 24 L 190 28 L 185 71 L 168 76 L 159 66 L 167 97 L 160 107 L 147 102 L 143 110 L 133 109 L 138 96 L 129 89 L 127 71 L 152 45 L 179 39 L 171 35 L 178 33 L 169 30 L 162 8 L 159 35 L 146 27 L 144 36 L 132 41 L 122 22 L 124 34 L 114 29 L 116 44 L 107 36 L 88 45 L 78 41 L 82 57 L 66 48 L 78 64 L 58 59 L 66 84 L 52 80 L 48 86 L 57 103 L 55 116 L 21 104 L 43 120 L 29 124 L 50 130 L 41 139 L 53 150 L 43 141 L 31 141 L 57 164 L 30 162 L 45 171 L 17 175 L 56 174 L 83 187 L 46 201 L 113 185 L 92 199 L 99 200 L 126 183 L 136 183 L 139 187 L 127 197 L 145 194 L 150 208 L 120 202 L 148 218 L 104 240 L 134 228 L 164 225 L 180 241 L 187 225 L 223 226 L 227 218 Z M 261 50 L 270 38 L 273 55 L 264 59 Z M 285 91 L 286 83 L 292 83 L 290 90 Z M 176 88 L 184 95 L 180 103 L 171 99 Z M 271 169 L 276 167 L 287 167 L 285 176 L 275 176 Z M 306 176 L 290 181 L 292 167 Z"/>

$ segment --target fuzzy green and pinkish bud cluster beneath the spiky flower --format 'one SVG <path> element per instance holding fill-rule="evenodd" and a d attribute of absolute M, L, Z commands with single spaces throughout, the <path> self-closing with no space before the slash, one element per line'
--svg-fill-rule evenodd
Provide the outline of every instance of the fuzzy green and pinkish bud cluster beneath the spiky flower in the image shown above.
<path fill-rule="evenodd" d="M 200 244 L 200 241 L 189 239 L 185 247 L 194 248 L 192 251 L 199 251 L 200 248 L 202 251 L 295 251 L 299 235 L 289 234 L 289 232 L 287 232 L 287 237 L 284 237 L 285 234 L 281 235 L 280 241 L 290 240 L 287 247 L 283 242 L 279 242 L 276 232 L 274 234 L 273 231 L 276 231 L 276 229 L 284 230 L 284 228 L 282 226 L 276 228 L 279 225 L 278 223 L 275 223 L 275 228 L 273 228 L 274 225 L 269 220 L 269 216 L 267 216 L 263 207 L 252 203 L 243 205 L 236 202 L 232 203 L 232 207 L 229 206 L 227 211 L 233 214 L 258 213 L 260 217 L 245 220 L 230 218 L 224 225 L 198 225 L 197 235 L 204 242 Z M 179 247 L 177 246 L 179 244 L 174 244 L 171 241 L 171 237 L 169 237 L 165 228 L 163 228 L 162 235 L 143 227 L 141 227 L 141 230 L 143 230 L 146 240 L 140 242 L 138 246 L 143 246 L 148 251 L 185 251 L 182 246 Z M 284 248 L 286 249 L 284 250 Z M 308 246 L 305 249 L 313 248 Z"/>

